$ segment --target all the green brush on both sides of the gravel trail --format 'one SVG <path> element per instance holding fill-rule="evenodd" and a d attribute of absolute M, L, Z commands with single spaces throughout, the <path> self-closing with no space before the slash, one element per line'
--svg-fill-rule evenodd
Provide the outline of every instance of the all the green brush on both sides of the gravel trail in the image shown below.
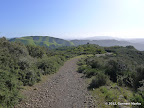
<path fill-rule="evenodd" d="M 27 38 L 33 38 L 35 42 L 23 45 L 0 39 L 0 108 L 13 107 L 22 99 L 19 92 L 23 86 L 32 86 L 41 80 L 42 75 L 55 73 L 67 59 L 89 54 L 91 56 L 78 62 L 78 71 L 92 79 L 89 89 L 96 89 L 106 101 L 119 100 L 116 91 L 121 91 L 124 101 L 139 102 L 140 107 L 144 107 L 144 52 L 132 46 L 103 48 L 88 43 L 50 50 L 46 45 L 33 43 L 45 39 L 59 44 L 62 41 L 46 37 Z M 130 88 L 133 93 L 123 87 Z"/>

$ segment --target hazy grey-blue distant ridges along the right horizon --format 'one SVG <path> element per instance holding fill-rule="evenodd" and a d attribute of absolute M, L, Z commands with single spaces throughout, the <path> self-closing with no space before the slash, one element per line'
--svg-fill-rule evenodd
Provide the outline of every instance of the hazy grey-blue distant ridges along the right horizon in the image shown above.
<path fill-rule="evenodd" d="M 144 47 L 143 44 L 139 44 L 139 43 L 131 43 L 131 42 L 127 42 L 127 41 L 118 41 L 118 40 L 71 40 L 71 42 L 74 43 L 74 45 L 83 45 L 83 44 L 97 44 L 99 46 L 128 46 L 128 45 L 132 45 L 134 46 L 137 50 L 141 50 L 144 51 Z"/>

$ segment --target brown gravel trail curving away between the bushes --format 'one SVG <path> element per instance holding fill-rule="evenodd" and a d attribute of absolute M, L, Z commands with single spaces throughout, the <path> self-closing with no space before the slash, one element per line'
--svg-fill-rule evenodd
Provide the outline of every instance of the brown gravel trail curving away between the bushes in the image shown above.
<path fill-rule="evenodd" d="M 27 98 L 15 108 L 95 108 L 82 74 L 76 72 L 77 61 L 68 60 L 46 82 L 24 91 Z"/>

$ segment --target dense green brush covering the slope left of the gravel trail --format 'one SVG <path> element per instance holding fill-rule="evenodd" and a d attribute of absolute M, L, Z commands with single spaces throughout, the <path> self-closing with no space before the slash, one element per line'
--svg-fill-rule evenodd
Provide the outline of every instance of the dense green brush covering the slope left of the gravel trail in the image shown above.
<path fill-rule="evenodd" d="M 22 39 L 25 42 L 28 38 L 35 41 L 56 41 L 59 44 L 62 42 L 47 37 Z M 4 37 L 0 38 L 0 108 L 13 107 L 22 99 L 19 92 L 23 86 L 32 86 L 41 80 L 42 75 L 55 73 L 67 59 L 78 55 L 105 53 L 104 48 L 97 45 L 87 44 L 51 50 L 30 43 L 24 45 L 9 42 Z"/>

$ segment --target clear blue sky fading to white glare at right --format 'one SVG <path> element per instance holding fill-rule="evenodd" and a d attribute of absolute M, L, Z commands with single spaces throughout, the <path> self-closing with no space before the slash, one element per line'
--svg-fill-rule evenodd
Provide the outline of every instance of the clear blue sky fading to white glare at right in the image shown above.
<path fill-rule="evenodd" d="M 0 36 L 144 38 L 144 0 L 0 0 Z"/>

